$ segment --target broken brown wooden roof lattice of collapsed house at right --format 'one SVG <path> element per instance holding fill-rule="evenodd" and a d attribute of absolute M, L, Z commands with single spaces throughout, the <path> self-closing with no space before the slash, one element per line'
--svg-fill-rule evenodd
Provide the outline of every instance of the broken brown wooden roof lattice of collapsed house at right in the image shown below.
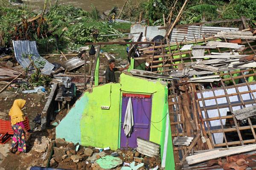
<path fill-rule="evenodd" d="M 194 41 L 187 41 L 186 37 L 181 42 L 168 42 L 165 45 L 155 45 L 140 49 L 143 51 L 145 61 L 149 63 L 149 67 L 157 68 L 157 71 L 153 73 L 163 73 L 166 77 L 180 77 L 181 80 L 170 85 L 169 91 L 169 116 L 171 122 L 172 137 L 176 136 L 190 136 L 196 137 L 199 134 L 202 135 L 204 140 L 197 139 L 192 148 L 187 146 L 174 146 L 175 162 L 176 164 L 183 164 L 184 158 L 188 152 L 195 150 L 207 150 L 215 147 L 231 147 L 236 145 L 244 145 L 248 143 L 256 143 L 256 134 L 254 128 L 256 128 L 256 122 L 253 122 L 251 118 L 247 118 L 247 125 L 236 119 L 232 114 L 237 108 L 245 108 L 249 105 L 256 104 L 256 82 L 249 82 L 249 78 L 256 79 L 256 70 L 254 68 L 225 68 L 227 71 L 204 71 L 203 74 L 215 74 L 220 77 L 218 82 L 219 88 L 214 88 L 213 82 L 207 82 L 209 90 L 203 90 L 198 83 L 189 83 L 188 78 L 182 75 L 183 68 L 192 68 L 195 65 L 196 60 L 192 58 L 192 50 L 181 50 L 182 45 L 206 45 L 208 41 L 220 41 L 215 37 L 203 37 L 201 40 L 195 39 Z M 224 39 L 225 42 L 228 40 Z M 245 47 L 239 51 L 239 54 L 249 55 L 256 54 L 255 41 L 244 40 L 241 42 Z M 203 61 L 211 62 L 213 60 L 207 60 L 207 55 L 215 53 L 229 53 L 233 52 L 230 48 L 210 48 L 205 46 Z M 194 56 L 193 56 L 194 57 Z M 139 59 L 139 58 L 135 58 Z M 215 59 L 217 60 L 217 59 Z M 221 60 L 221 59 L 220 59 Z M 216 62 L 218 64 L 218 62 Z M 185 71 L 186 72 L 186 71 Z M 190 74 L 189 76 L 196 76 L 198 74 Z M 218 72 L 218 73 L 215 73 Z M 182 78 L 183 77 L 183 78 Z M 202 77 L 202 76 L 201 76 Z M 198 78 L 201 78 L 198 77 Z M 202 81 L 204 83 L 204 81 Z M 206 81 L 205 81 L 206 82 Z M 227 85 L 225 84 L 227 83 Z M 253 87 L 252 87 L 253 86 Z M 247 90 L 240 91 L 241 88 L 247 88 Z M 230 93 L 230 89 L 233 93 Z M 222 94 L 216 93 L 216 90 L 222 91 Z M 204 93 L 211 92 L 212 96 L 204 96 Z M 243 96 L 251 96 L 250 99 L 244 99 Z M 234 102 L 230 98 L 236 97 L 239 102 Z M 220 103 L 219 99 L 224 99 L 225 104 Z M 209 101 L 214 105 L 209 106 Z M 223 114 L 223 109 L 226 109 L 226 113 Z M 215 116 L 211 115 L 211 111 L 215 110 Z M 227 114 L 227 111 L 231 114 Z M 212 128 L 212 122 L 218 122 L 218 126 Z M 221 142 L 215 141 L 215 135 L 221 134 Z M 249 134 L 249 135 L 248 135 Z M 233 139 L 231 138 L 233 137 Z"/>

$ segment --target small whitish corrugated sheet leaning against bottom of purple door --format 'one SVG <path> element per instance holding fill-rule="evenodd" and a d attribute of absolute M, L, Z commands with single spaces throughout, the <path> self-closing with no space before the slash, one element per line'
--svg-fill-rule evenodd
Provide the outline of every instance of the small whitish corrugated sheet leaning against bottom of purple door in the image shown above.
<path fill-rule="evenodd" d="M 137 151 L 143 155 L 159 156 L 160 145 L 137 137 Z"/>

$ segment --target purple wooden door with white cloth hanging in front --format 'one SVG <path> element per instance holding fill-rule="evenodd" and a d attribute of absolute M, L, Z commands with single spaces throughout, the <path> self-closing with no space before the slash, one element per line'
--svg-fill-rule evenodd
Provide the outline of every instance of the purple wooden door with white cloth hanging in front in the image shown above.
<path fill-rule="evenodd" d="M 122 97 L 122 119 L 121 119 L 121 148 L 137 147 L 137 137 L 149 140 L 150 120 L 151 120 L 151 96 L 150 98 L 131 98 L 134 126 L 130 137 L 125 136 L 123 122 L 129 97 Z"/>

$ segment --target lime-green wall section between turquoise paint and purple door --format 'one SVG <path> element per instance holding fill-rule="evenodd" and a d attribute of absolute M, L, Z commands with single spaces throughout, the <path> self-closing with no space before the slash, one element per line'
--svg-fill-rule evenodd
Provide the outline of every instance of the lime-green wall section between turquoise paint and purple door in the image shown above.
<path fill-rule="evenodd" d="M 118 148 L 120 84 L 109 83 L 84 93 L 88 105 L 81 117 L 81 144 L 95 147 Z M 101 109 L 101 106 L 110 106 Z"/>

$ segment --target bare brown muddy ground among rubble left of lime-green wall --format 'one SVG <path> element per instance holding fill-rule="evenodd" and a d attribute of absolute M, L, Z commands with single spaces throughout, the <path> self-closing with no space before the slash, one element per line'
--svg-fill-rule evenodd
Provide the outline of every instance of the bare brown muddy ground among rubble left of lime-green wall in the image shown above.
<path fill-rule="evenodd" d="M 87 56 L 87 55 L 86 55 Z M 67 59 L 71 59 L 73 56 L 67 56 Z M 127 61 L 125 59 L 118 59 L 118 56 L 116 56 L 116 67 L 124 67 L 125 64 L 127 64 Z M 47 60 L 51 63 L 55 62 L 58 64 L 63 64 L 66 60 L 63 56 L 51 56 L 48 57 Z M 11 60 L 15 65 L 18 65 L 15 60 Z M 86 61 L 89 61 L 89 57 L 86 57 Z M 6 62 L 2 62 L 2 64 L 5 64 Z M 104 54 L 101 54 L 100 57 L 100 66 L 99 66 L 99 75 L 104 76 L 104 71 L 106 67 L 108 67 L 108 59 L 105 57 Z M 88 74 L 89 71 L 89 63 L 86 64 L 86 71 Z M 81 66 L 77 69 L 74 69 L 73 71 L 66 72 L 66 74 L 84 74 L 84 66 Z M 116 73 L 116 79 L 119 78 L 120 73 Z M 55 82 L 56 79 L 52 80 L 52 83 Z M 39 127 L 35 129 L 35 122 L 33 122 L 33 119 L 40 114 L 43 111 L 43 108 L 47 102 L 47 96 L 50 93 L 51 85 L 46 87 L 47 93 L 45 94 L 23 94 L 21 91 L 25 90 L 21 87 L 21 84 L 27 83 L 27 78 L 20 78 L 17 79 L 17 81 L 13 82 L 12 85 L 10 85 L 8 88 L 6 88 L 5 91 L 3 91 L 0 94 L 0 119 L 9 120 L 9 110 L 12 108 L 12 104 L 15 99 L 25 99 L 26 104 L 23 109 L 23 113 L 28 117 L 29 119 L 29 125 L 30 125 L 30 133 L 31 137 L 27 141 L 27 153 L 21 153 L 20 155 L 15 155 L 13 153 L 8 152 L 8 147 L 11 144 L 11 140 L 6 143 L 5 145 L 0 146 L 0 170 L 29 170 L 31 166 L 46 166 L 45 161 L 43 160 L 43 153 L 38 153 L 35 150 L 32 150 L 32 147 L 34 145 L 35 139 L 41 139 L 42 136 L 48 137 L 50 140 L 55 139 L 55 126 L 47 127 L 47 130 L 45 131 L 38 131 L 40 130 Z M 100 82 L 105 82 L 105 79 L 101 79 Z M 7 82 L 0 83 L 0 89 L 2 89 Z M 52 84 L 51 83 L 51 84 Z M 30 87 L 31 89 L 33 87 Z M 78 99 L 84 92 L 84 87 L 77 87 L 77 96 L 76 98 L 70 103 L 70 107 L 76 102 L 76 99 Z M 58 122 L 58 120 L 61 121 L 63 117 L 67 114 L 67 106 L 62 105 L 61 111 L 59 113 L 56 113 L 56 118 L 53 122 Z M 53 123 L 51 122 L 51 124 Z M 63 165 L 64 166 L 64 165 Z M 67 165 L 69 166 L 69 165 Z M 67 168 L 66 166 L 66 168 Z M 72 167 L 73 166 L 73 167 Z M 77 166 L 70 165 L 69 169 L 78 169 Z M 65 166 L 64 166 L 65 167 Z M 94 168 L 95 170 L 97 167 Z"/>

